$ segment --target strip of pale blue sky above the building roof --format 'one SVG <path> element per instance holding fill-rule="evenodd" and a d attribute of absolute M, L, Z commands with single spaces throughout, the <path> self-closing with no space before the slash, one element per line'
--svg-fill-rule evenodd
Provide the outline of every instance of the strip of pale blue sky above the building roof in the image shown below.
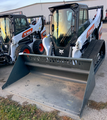
<path fill-rule="evenodd" d="M 63 1 L 76 1 L 76 0 L 0 0 L 0 12 L 24 7 L 34 3 L 63 2 Z"/>

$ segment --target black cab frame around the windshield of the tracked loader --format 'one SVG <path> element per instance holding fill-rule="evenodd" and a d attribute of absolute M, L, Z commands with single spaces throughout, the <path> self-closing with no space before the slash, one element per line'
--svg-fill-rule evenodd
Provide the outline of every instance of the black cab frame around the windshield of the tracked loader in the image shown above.
<path fill-rule="evenodd" d="M 54 6 L 54 7 L 49 7 L 50 12 L 53 14 L 53 12 L 55 10 L 59 10 L 59 9 L 67 9 L 67 8 L 71 8 L 74 11 L 74 19 L 75 19 L 75 28 L 74 28 L 74 35 L 72 38 L 72 42 L 69 42 L 65 47 L 58 47 L 56 46 L 54 40 L 52 40 L 53 45 L 54 45 L 54 53 L 56 56 L 64 56 L 64 57 L 68 57 L 69 56 L 69 52 L 70 52 L 70 47 L 75 46 L 75 43 L 77 41 L 78 38 L 78 30 L 79 30 L 79 10 L 82 9 L 86 9 L 87 10 L 87 15 L 88 15 L 88 6 L 87 5 L 82 5 L 82 4 L 77 4 L 77 3 L 73 3 L 73 4 L 64 4 L 64 5 L 59 5 L 59 6 Z M 88 17 L 89 19 L 89 17 Z M 52 35 L 51 35 L 52 36 Z M 63 55 L 59 54 L 59 49 L 62 49 L 65 51 L 65 53 Z"/>

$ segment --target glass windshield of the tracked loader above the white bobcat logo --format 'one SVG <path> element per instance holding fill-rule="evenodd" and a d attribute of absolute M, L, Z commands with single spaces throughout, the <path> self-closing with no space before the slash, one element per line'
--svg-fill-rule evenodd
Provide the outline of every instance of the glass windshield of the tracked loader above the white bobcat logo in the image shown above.
<path fill-rule="evenodd" d="M 74 31 L 74 17 L 72 9 L 56 10 L 52 16 L 52 37 L 57 46 L 66 46 Z"/>

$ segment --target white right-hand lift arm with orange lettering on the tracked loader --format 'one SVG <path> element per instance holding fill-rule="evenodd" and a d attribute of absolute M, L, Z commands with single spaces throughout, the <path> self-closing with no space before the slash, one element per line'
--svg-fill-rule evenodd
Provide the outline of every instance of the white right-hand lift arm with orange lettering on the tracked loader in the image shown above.
<path fill-rule="evenodd" d="M 79 38 L 76 41 L 75 47 L 73 47 L 72 57 L 80 58 L 82 53 L 81 49 L 87 39 L 92 40 L 92 33 L 95 29 L 100 27 L 100 30 L 102 29 L 101 19 L 102 19 L 102 7 L 97 9 L 97 14 L 94 20 L 90 20 L 90 25 L 87 27 L 87 29 L 79 36 Z M 100 31 L 99 30 L 99 31 Z"/>

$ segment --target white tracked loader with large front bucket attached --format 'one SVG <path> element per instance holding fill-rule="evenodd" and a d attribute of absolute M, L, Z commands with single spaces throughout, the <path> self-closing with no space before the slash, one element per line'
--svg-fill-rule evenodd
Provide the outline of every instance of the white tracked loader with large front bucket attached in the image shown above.
<path fill-rule="evenodd" d="M 103 7 L 73 3 L 49 9 L 51 34 L 42 41 L 46 55 L 20 53 L 2 89 L 17 81 L 8 90 L 81 116 L 95 87 L 94 75 L 105 57 Z M 97 15 L 91 20 L 88 14 L 92 9 L 97 9 Z"/>

